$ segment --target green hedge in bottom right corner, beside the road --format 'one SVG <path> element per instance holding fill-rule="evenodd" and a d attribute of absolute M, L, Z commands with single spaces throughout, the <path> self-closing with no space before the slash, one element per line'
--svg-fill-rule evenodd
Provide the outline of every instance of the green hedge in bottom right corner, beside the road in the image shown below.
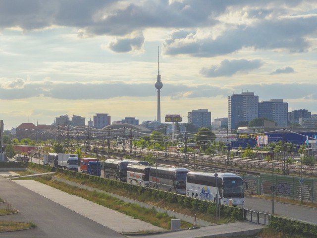
<path fill-rule="evenodd" d="M 317 237 L 317 226 L 305 222 L 271 216 L 269 226 L 276 231 L 289 235 L 299 235 L 308 238 Z"/>

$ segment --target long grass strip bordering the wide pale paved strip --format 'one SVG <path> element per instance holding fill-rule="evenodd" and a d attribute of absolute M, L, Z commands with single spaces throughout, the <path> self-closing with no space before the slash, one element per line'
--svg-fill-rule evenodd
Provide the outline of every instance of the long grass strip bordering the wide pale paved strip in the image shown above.
<path fill-rule="evenodd" d="M 166 213 L 158 213 L 155 209 L 147 209 L 136 204 L 126 203 L 105 193 L 97 192 L 96 190 L 87 191 L 86 189 L 80 189 L 62 182 L 50 180 L 50 177 L 37 178 L 36 180 L 166 230 L 170 229 L 170 220 L 175 219 L 174 217 L 169 217 Z M 189 227 L 192 227 L 192 224 L 187 222 L 181 223 L 181 228 Z"/>

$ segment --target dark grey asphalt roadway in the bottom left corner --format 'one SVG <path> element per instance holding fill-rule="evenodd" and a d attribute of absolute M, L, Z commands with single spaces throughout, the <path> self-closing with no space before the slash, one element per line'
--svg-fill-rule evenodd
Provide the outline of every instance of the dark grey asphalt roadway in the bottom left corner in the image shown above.
<path fill-rule="evenodd" d="M 19 213 L 0 216 L 2 221 L 36 224 L 36 228 L 2 233 L 6 238 L 123 238 L 124 236 L 69 210 L 15 182 L 0 177 L 0 196 Z M 6 203 L 6 204 L 7 204 Z"/>

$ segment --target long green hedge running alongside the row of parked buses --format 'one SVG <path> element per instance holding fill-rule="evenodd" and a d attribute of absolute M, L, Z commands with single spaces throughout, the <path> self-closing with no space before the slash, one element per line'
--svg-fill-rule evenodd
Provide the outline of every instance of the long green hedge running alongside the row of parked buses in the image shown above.
<path fill-rule="evenodd" d="M 52 168 L 50 166 L 43 166 L 43 165 L 30 163 L 29 167 L 45 168 L 46 171 L 60 172 L 65 175 L 72 176 L 78 179 L 84 179 L 84 180 L 95 182 L 97 184 L 103 184 L 103 185 L 106 185 L 106 187 L 108 188 L 120 188 L 122 191 L 126 193 L 130 193 L 130 194 L 134 193 L 134 194 L 141 195 L 142 200 L 150 200 L 150 201 L 164 200 L 172 204 L 177 204 L 180 207 L 187 207 L 187 208 L 194 209 L 195 211 L 199 211 L 203 214 L 211 214 L 211 215 L 215 214 L 216 207 L 215 207 L 215 203 L 213 202 L 199 200 L 196 198 L 192 198 L 192 197 L 188 197 L 188 196 L 184 196 L 184 195 L 180 195 L 176 193 L 161 191 L 157 189 L 152 189 L 148 187 L 133 185 L 127 182 L 121 182 L 121 181 L 101 178 L 97 176 L 90 176 L 87 174 L 77 173 L 77 172 L 73 172 L 69 170 L 61 170 L 57 168 Z M 226 217 L 228 221 L 243 220 L 241 209 L 236 207 L 221 205 L 220 213 L 221 213 L 221 216 Z"/>

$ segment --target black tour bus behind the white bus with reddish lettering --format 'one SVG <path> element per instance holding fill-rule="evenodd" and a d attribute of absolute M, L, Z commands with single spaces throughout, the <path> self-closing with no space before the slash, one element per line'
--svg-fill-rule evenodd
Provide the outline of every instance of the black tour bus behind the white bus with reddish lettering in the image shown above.
<path fill-rule="evenodd" d="M 128 164 L 149 165 L 149 162 L 128 159 L 107 159 L 104 164 L 104 177 L 107 179 L 112 177 L 113 179 L 119 179 L 120 181 L 126 182 Z"/>

